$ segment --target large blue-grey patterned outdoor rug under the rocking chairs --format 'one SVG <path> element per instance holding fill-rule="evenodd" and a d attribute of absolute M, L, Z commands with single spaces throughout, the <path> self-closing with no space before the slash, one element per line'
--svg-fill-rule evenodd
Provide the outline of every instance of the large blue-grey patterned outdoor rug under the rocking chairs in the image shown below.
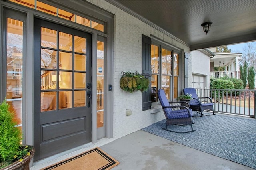
<path fill-rule="evenodd" d="M 195 112 L 194 112 L 195 113 Z M 166 119 L 142 128 L 157 136 L 256 169 L 256 120 L 225 115 L 193 117 L 195 132 L 163 130 Z M 190 125 L 170 125 L 174 131 L 191 130 Z"/>

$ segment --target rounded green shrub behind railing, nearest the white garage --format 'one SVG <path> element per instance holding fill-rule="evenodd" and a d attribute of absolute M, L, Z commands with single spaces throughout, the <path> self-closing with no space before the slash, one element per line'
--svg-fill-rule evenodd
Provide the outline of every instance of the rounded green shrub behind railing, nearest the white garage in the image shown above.
<path fill-rule="evenodd" d="M 211 89 L 234 89 L 234 83 L 230 80 L 214 79 L 212 81 Z M 231 91 L 224 91 L 224 95 L 226 95 L 226 92 L 230 94 Z M 222 98 L 222 92 L 220 91 L 220 96 L 219 96 L 218 91 L 213 90 L 212 98 L 215 98 L 216 101 L 220 100 Z"/>

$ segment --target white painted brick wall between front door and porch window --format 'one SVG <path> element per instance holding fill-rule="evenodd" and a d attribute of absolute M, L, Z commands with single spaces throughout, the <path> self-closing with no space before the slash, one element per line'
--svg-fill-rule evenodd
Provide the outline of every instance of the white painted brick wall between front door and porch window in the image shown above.
<path fill-rule="evenodd" d="M 115 15 L 113 73 L 114 138 L 120 138 L 164 119 L 162 112 L 151 114 L 150 110 L 142 111 L 142 95 L 140 92 L 128 93 L 120 88 L 121 71 L 142 71 L 142 34 L 146 36 L 151 34 L 160 40 L 184 49 L 188 54 L 190 51 L 186 45 L 170 38 L 106 1 L 90 2 Z M 189 73 L 191 73 L 191 67 L 189 68 Z M 126 109 L 131 109 L 132 115 L 126 116 Z"/>

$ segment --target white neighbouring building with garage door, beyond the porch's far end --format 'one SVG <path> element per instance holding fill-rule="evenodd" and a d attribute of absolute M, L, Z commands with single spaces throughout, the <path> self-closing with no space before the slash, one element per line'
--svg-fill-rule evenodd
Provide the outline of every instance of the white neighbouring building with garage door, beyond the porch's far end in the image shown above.
<path fill-rule="evenodd" d="M 210 58 L 215 54 L 208 49 L 191 51 L 192 86 L 198 89 L 210 88 Z"/>

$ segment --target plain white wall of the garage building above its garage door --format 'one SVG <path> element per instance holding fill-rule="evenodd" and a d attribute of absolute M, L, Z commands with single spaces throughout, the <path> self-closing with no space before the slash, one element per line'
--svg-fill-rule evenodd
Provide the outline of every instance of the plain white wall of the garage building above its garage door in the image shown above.
<path fill-rule="evenodd" d="M 191 52 L 192 75 L 204 77 L 204 87 L 210 88 L 210 57 L 202 51 Z M 192 84 L 191 84 L 192 85 Z M 204 88 L 201 87 L 201 88 Z"/>

